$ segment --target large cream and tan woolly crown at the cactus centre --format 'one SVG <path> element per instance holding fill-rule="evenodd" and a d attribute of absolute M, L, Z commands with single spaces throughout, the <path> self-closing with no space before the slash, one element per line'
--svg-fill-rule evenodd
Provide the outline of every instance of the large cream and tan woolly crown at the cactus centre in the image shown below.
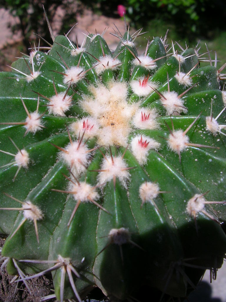
<path fill-rule="evenodd" d="M 86 97 L 82 107 L 100 125 L 98 143 L 105 146 L 127 146 L 130 120 L 139 106 L 127 103 L 127 85 L 111 82 L 108 89 L 99 85 L 97 88 L 91 86 L 90 91 L 94 98 Z"/>

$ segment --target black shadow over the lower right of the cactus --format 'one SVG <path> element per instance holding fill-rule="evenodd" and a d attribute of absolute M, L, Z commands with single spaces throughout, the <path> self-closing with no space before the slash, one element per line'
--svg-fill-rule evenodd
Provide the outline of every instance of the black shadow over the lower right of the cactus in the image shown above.
<path fill-rule="evenodd" d="M 98 256 L 102 285 L 110 295 L 120 300 L 131 296 L 146 301 L 151 293 L 152 301 L 157 302 L 161 298 L 165 302 L 170 297 L 183 301 L 207 268 L 221 267 L 226 252 L 225 240 L 222 241 L 224 233 L 218 224 L 200 218 L 197 230 L 198 233 L 193 221 L 188 222 L 179 229 L 178 241 L 174 230 L 168 224 L 163 224 L 140 234 L 139 238 L 133 237 L 133 241 L 143 250 L 130 243 L 123 244 L 123 259 L 119 246 L 109 245 Z M 219 299 L 211 300 L 211 288 L 206 282 L 203 283 L 206 286 L 205 295 L 199 301 L 222 302 Z M 192 297 L 195 299 L 196 296 Z"/>

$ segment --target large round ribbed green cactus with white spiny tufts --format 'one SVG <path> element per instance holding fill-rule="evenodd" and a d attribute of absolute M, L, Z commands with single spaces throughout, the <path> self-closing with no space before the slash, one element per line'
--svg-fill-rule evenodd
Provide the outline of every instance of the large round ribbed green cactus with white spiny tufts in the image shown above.
<path fill-rule="evenodd" d="M 0 74 L 2 268 L 28 289 L 52 272 L 60 301 L 179 300 L 225 257 L 216 59 L 166 37 L 138 55 L 140 34 L 117 33 L 114 53 L 103 34 L 52 34 Z"/>

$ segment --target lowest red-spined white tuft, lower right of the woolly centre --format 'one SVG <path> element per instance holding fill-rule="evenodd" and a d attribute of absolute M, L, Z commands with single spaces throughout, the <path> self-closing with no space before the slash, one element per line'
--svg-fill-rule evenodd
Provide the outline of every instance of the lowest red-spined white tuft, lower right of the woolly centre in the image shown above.
<path fill-rule="evenodd" d="M 159 147 L 160 143 L 144 135 L 136 136 L 131 141 L 132 153 L 141 165 L 147 162 L 148 151 L 150 149 L 157 150 Z"/>

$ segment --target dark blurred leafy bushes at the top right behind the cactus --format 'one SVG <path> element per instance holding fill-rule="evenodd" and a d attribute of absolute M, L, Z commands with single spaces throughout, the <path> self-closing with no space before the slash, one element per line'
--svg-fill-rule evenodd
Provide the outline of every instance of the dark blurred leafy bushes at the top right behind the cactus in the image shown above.
<path fill-rule="evenodd" d="M 152 20 L 159 20 L 174 24 L 174 30 L 182 38 L 210 38 L 213 30 L 226 29 L 225 0 L 84 0 L 83 3 L 108 15 L 115 13 L 117 5 L 124 5 L 131 25 L 147 28 L 152 26 Z"/>

